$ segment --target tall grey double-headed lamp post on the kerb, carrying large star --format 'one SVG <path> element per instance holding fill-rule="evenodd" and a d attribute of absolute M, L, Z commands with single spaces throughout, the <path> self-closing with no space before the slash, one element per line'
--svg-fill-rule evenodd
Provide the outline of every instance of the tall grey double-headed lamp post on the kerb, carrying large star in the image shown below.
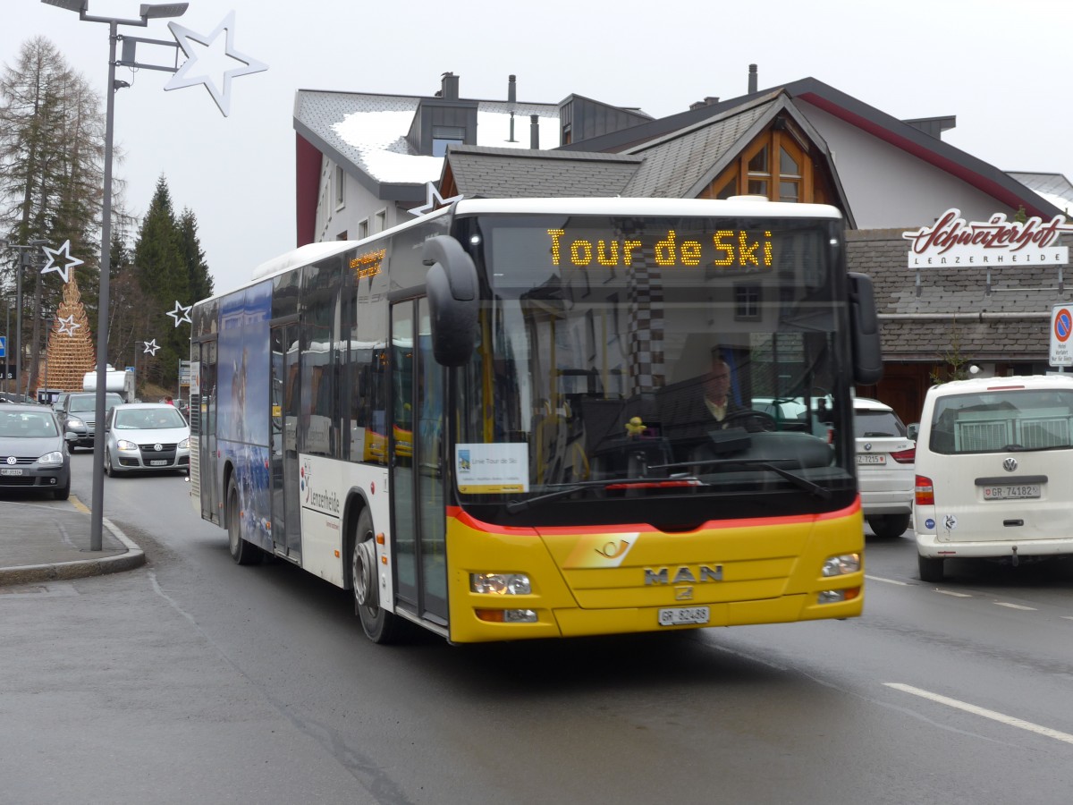
<path fill-rule="evenodd" d="M 101 209 L 101 290 L 97 311 L 97 425 L 93 438 L 93 497 L 90 518 L 89 550 L 102 550 L 102 524 L 104 515 L 104 398 L 108 385 L 108 273 L 111 272 L 112 248 L 112 141 L 116 107 L 116 90 L 127 84 L 116 83 L 116 42 L 119 26 L 129 25 L 145 28 L 150 19 L 180 17 L 186 14 L 189 3 L 142 3 L 137 19 L 119 17 L 98 17 L 87 14 L 89 0 L 41 0 L 46 5 L 57 5 L 68 11 L 78 12 L 78 18 L 87 23 L 108 25 L 108 83 L 105 86 L 107 104 L 104 118 L 104 194 Z"/>

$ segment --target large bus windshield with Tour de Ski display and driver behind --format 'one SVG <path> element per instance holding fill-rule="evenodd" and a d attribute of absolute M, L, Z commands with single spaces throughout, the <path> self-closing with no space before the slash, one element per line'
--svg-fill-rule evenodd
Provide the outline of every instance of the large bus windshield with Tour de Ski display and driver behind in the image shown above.
<path fill-rule="evenodd" d="M 458 384 L 464 499 L 852 483 L 824 221 L 486 216 L 466 234 L 487 292 Z"/>

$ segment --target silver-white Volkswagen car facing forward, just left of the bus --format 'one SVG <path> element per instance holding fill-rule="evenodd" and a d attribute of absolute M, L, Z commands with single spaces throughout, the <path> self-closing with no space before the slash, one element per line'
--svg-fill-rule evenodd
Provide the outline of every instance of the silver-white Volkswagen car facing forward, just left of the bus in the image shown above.
<path fill-rule="evenodd" d="M 190 469 L 190 425 L 168 402 L 116 406 L 104 421 L 104 472 Z"/>

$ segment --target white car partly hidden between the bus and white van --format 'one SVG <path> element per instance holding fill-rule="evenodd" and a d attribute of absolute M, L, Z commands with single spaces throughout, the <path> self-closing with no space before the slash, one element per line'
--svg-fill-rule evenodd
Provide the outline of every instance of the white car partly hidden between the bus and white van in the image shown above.
<path fill-rule="evenodd" d="M 853 400 L 853 436 L 865 521 L 877 537 L 900 537 L 913 513 L 916 443 L 891 406 L 867 397 Z"/>

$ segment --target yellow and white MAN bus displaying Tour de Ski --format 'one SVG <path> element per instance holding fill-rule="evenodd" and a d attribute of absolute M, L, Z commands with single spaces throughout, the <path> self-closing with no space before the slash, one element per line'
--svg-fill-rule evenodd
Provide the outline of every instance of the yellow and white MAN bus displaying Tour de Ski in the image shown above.
<path fill-rule="evenodd" d="M 351 590 L 377 643 L 859 615 L 851 392 L 882 362 L 843 230 L 464 199 L 300 247 L 192 310 L 194 510 L 239 565 Z"/>

